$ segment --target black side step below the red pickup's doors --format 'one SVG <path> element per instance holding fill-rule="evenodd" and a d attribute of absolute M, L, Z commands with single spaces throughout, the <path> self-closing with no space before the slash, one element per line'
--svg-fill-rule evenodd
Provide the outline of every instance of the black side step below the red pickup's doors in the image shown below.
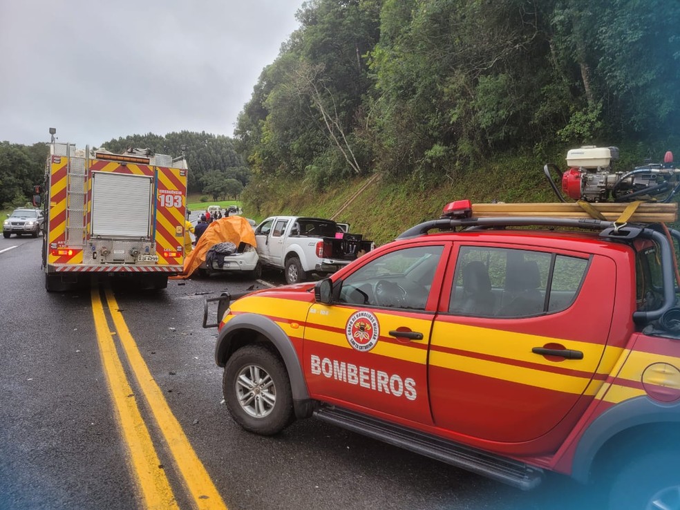
<path fill-rule="evenodd" d="M 349 431 L 367 435 L 452 466 L 462 467 L 525 491 L 538 487 L 542 481 L 542 469 L 350 410 L 321 407 L 314 411 L 314 416 Z"/>

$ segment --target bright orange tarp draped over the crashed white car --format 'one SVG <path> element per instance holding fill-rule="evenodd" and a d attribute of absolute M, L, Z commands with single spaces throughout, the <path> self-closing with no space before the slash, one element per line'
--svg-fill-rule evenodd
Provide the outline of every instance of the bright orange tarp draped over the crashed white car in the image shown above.
<path fill-rule="evenodd" d="M 240 243 L 247 243 L 255 247 L 255 232 L 253 232 L 253 227 L 250 226 L 248 220 L 242 216 L 228 216 L 214 220 L 200 236 L 193 252 L 185 258 L 182 274 L 171 276 L 171 278 L 189 278 L 191 273 L 196 271 L 196 268 L 205 261 L 205 255 L 211 247 L 227 241 L 234 243 L 237 247 Z"/>

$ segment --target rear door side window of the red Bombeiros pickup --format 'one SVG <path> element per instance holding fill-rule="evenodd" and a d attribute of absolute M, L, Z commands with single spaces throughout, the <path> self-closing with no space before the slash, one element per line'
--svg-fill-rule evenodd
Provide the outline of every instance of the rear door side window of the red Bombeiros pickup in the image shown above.
<path fill-rule="evenodd" d="M 587 258 L 464 246 L 448 311 L 503 319 L 559 312 L 576 299 L 587 267 Z"/>

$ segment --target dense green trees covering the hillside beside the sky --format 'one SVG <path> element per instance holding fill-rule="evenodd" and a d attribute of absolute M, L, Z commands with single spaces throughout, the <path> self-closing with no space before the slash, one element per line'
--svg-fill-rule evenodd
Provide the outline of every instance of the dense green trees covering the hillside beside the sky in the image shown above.
<path fill-rule="evenodd" d="M 297 17 L 236 126 L 255 204 L 276 178 L 425 189 L 502 153 L 678 140 L 677 2 L 310 0 Z"/>

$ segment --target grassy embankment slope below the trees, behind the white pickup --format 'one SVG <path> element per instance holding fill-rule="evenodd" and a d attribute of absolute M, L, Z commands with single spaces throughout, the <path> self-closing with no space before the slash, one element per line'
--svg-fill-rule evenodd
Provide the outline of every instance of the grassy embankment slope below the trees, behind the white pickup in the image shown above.
<path fill-rule="evenodd" d="M 271 182 L 260 211 L 249 217 L 262 220 L 273 214 L 294 214 L 330 218 L 361 187 L 366 179 L 341 183 L 332 190 L 313 193 L 297 183 Z M 453 200 L 473 202 L 554 202 L 556 198 L 543 174 L 542 164 L 533 158 L 499 159 L 474 171 L 460 171 L 442 178 L 440 185 L 421 189 L 415 182 L 396 181 L 383 176 L 344 209 L 337 221 L 350 224 L 350 232 L 382 245 L 426 220 L 439 218 L 442 207 Z M 245 214 L 252 205 L 244 202 Z"/>

